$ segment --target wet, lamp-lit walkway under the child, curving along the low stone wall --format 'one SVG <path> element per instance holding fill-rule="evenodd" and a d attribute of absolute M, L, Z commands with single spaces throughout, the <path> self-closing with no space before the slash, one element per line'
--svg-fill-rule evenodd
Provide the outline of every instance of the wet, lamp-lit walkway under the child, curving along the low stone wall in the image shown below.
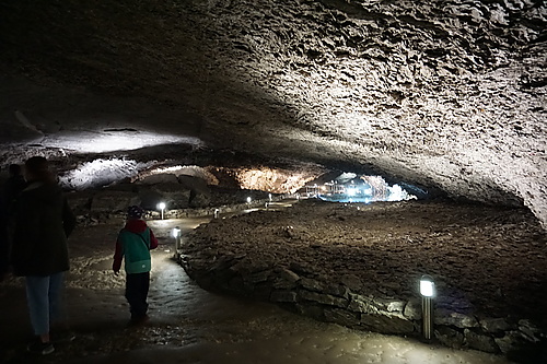
<path fill-rule="evenodd" d="M 78 338 L 58 347 L 47 363 L 508 363 L 485 353 L 353 331 L 295 316 L 270 304 L 203 291 L 172 259 L 173 239 L 168 235 L 173 227 L 181 226 L 184 236 L 206 221 L 150 222 L 161 240 L 153 254 L 151 320 L 130 329 L 125 326 L 128 313 L 123 280 L 113 280 L 109 271 L 112 246 L 102 244 L 115 236 L 117 225 L 81 228 L 72 238 L 77 257 L 68 291 L 70 320 Z M 2 297 L 0 309 L 14 314 L 2 316 L 1 339 L 14 345 L 8 363 L 25 363 L 30 357 L 21 344 L 21 338 L 28 332 L 24 293 L 13 282 L 9 292 L 11 300 Z M 7 304 L 10 307 L 4 307 Z M 12 328 L 15 334 L 7 339 L 4 328 Z"/>

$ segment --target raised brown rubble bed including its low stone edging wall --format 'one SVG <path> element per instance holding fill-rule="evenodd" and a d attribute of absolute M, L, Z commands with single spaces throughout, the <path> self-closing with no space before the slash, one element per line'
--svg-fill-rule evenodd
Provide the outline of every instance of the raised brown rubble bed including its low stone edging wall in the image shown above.
<path fill-rule="evenodd" d="M 200 226 L 182 263 L 206 289 L 351 328 L 418 336 L 434 278 L 435 338 L 511 354 L 545 342 L 545 235 L 523 210 L 305 200 Z M 525 228 L 524 228 L 525 227 Z"/>

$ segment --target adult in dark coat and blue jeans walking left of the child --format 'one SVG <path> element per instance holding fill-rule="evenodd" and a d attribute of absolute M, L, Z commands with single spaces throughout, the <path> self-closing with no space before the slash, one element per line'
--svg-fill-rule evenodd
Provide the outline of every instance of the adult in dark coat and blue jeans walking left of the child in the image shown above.
<path fill-rule="evenodd" d="M 50 322 L 61 319 L 63 273 L 69 270 L 67 237 L 75 218 L 45 157 L 25 162 L 27 187 L 14 203 L 13 273 L 25 277 L 31 324 L 36 339 L 27 350 L 46 355 L 55 351 Z"/>

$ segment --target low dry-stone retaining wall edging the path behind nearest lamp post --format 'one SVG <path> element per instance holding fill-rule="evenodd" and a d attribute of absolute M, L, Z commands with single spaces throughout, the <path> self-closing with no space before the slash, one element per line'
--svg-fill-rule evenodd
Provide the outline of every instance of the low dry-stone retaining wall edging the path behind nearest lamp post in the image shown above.
<path fill-rule="evenodd" d="M 318 320 L 381 333 L 421 334 L 421 301 L 388 300 L 358 293 L 351 275 L 326 282 L 300 267 L 248 266 L 243 257 L 214 262 L 183 256 L 181 263 L 202 287 L 278 304 Z M 510 354 L 537 351 L 545 332 L 527 319 L 477 318 L 446 309 L 434 312 L 434 337 L 454 349 Z"/>

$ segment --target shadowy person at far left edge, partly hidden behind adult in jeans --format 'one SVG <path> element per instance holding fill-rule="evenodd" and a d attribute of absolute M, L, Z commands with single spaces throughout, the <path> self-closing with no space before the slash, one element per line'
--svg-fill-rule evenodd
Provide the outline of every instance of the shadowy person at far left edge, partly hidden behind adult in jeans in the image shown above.
<path fill-rule="evenodd" d="M 8 220 L 10 211 L 16 197 L 26 186 L 19 164 L 10 164 L 9 171 L 10 177 L 3 186 L 2 196 L 0 196 L 0 281 L 7 277 L 9 271 L 10 239 Z"/>

